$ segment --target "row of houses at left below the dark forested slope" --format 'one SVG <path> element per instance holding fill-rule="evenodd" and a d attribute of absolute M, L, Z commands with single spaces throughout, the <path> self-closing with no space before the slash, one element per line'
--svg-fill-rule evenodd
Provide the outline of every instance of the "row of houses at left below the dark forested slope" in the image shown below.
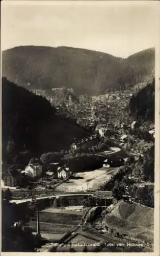
<path fill-rule="evenodd" d="M 22 180 L 35 179 L 43 174 L 55 179 L 67 179 L 72 176 L 70 168 L 66 165 L 60 166 L 59 163 L 50 163 L 44 166 L 37 163 L 29 163 L 24 170 L 12 169 L 7 170 L 2 174 L 2 179 L 5 186 L 20 186 Z"/>

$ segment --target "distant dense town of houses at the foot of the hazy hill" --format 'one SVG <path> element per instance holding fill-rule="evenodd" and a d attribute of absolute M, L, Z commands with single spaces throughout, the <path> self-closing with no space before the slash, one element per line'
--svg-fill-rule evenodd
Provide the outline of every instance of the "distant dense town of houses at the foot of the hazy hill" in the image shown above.
<path fill-rule="evenodd" d="M 90 125 L 91 122 L 105 122 L 108 116 L 112 115 L 115 109 L 124 111 L 125 106 L 129 102 L 131 93 L 109 93 L 99 96 L 87 96 L 80 95 L 79 102 L 74 102 L 72 105 L 68 105 L 67 109 L 72 113 L 77 123 L 80 125 Z M 115 120 L 113 120 L 115 123 Z"/>

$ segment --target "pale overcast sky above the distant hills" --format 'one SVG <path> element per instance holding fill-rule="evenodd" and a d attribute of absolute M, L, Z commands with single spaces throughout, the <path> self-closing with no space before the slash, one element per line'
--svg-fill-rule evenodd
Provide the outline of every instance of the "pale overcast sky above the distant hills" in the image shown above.
<path fill-rule="evenodd" d="M 2 50 L 70 46 L 127 57 L 157 43 L 157 1 L 29 3 L 3 2 Z"/>

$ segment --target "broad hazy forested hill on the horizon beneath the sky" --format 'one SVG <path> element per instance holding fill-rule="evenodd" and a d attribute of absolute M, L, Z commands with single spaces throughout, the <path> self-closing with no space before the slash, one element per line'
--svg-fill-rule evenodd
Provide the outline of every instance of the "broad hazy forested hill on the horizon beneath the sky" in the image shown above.
<path fill-rule="evenodd" d="M 3 52 L 2 73 L 28 89 L 66 87 L 77 94 L 103 94 L 150 77 L 154 73 L 154 48 L 122 59 L 70 47 L 15 47 Z"/>

